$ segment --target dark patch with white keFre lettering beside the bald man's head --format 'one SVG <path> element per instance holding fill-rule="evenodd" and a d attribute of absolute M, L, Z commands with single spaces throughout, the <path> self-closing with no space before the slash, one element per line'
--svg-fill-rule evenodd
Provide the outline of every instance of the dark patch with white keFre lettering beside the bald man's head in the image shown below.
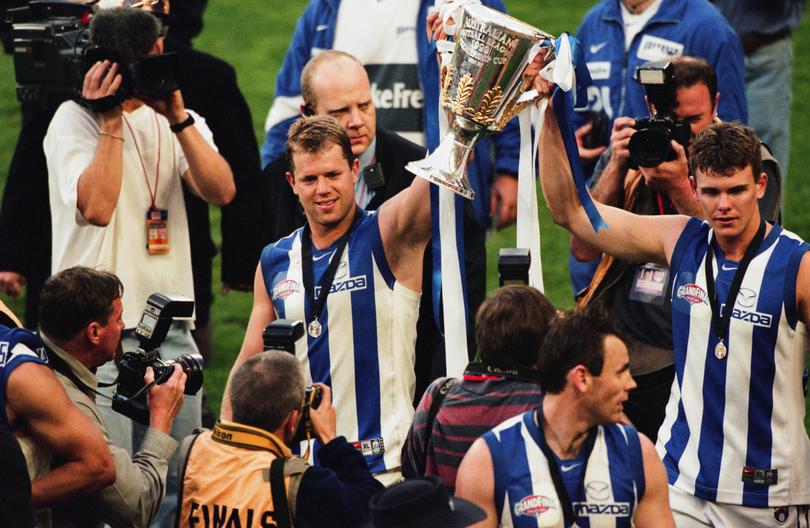
<path fill-rule="evenodd" d="M 424 130 L 422 86 L 416 64 L 366 64 L 377 125 L 395 132 Z"/>

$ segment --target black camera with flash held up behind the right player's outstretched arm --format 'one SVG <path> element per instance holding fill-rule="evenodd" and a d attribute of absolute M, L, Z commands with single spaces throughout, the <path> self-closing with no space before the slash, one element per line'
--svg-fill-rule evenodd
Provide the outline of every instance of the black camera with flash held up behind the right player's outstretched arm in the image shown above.
<path fill-rule="evenodd" d="M 670 142 L 684 148 L 692 130 L 689 123 L 675 116 L 673 67 L 667 61 L 645 62 L 636 69 L 635 79 L 644 86 L 647 100 L 655 106 L 655 115 L 636 119 L 636 133 L 630 138 L 630 167 L 657 167 L 677 156 Z"/>

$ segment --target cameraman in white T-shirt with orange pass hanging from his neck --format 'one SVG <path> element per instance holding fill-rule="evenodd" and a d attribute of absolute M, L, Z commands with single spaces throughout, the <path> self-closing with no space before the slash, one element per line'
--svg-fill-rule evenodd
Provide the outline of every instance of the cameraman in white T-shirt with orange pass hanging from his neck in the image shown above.
<path fill-rule="evenodd" d="M 43 144 L 52 271 L 84 265 L 115 273 L 126 287 L 122 342 L 131 350 L 141 303 L 150 293 L 194 298 L 181 179 L 215 205 L 233 198 L 234 183 L 204 120 L 185 108 L 179 90 L 165 93 L 174 87 L 170 76 L 148 67 L 172 69 L 169 58 L 160 57 L 158 20 L 140 9 L 101 9 L 90 22 L 89 37 L 91 50 L 107 57 L 84 78 L 82 95 L 94 111 L 63 103 Z M 190 328 L 190 321 L 172 326 L 161 348 L 166 359 L 196 352 Z M 99 368 L 100 381 L 116 376 L 113 363 Z M 133 433 L 142 431 L 133 431 L 131 420 L 114 413 L 106 400 L 98 405 L 113 442 L 133 452 L 140 440 Z M 199 425 L 197 395 L 185 399 L 174 437 L 181 439 Z M 170 480 L 169 494 L 172 486 Z"/>

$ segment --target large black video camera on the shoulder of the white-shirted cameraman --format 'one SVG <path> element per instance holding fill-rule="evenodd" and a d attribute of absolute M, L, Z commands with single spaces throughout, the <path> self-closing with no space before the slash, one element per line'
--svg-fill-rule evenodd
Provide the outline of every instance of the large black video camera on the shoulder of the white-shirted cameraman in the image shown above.
<path fill-rule="evenodd" d="M 88 29 L 93 13 L 93 3 L 68 0 L 32 0 L 7 11 L 20 102 L 48 107 L 74 99 L 91 110 L 101 110 L 84 101 L 81 93 L 87 70 L 105 59 L 118 63 L 123 77 L 114 105 L 133 96 L 162 99 L 177 89 L 174 53 L 126 61 L 112 50 L 90 47 Z"/>

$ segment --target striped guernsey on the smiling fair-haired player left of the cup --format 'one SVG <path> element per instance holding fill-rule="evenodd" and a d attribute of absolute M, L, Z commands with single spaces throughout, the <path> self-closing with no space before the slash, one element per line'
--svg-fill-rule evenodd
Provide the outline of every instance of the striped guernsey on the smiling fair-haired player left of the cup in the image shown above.
<path fill-rule="evenodd" d="M 419 293 L 396 282 L 377 220 L 374 212 L 355 220 L 318 319 L 323 332 L 317 338 L 307 334 L 296 348 L 311 380 L 332 388 L 337 434 L 366 456 L 372 473 L 400 466 L 413 417 L 419 315 Z M 261 267 L 276 315 L 309 322 L 314 301 L 304 293 L 301 234 L 298 229 L 265 247 Z M 313 247 L 314 284 L 320 284 L 336 246 Z"/>

